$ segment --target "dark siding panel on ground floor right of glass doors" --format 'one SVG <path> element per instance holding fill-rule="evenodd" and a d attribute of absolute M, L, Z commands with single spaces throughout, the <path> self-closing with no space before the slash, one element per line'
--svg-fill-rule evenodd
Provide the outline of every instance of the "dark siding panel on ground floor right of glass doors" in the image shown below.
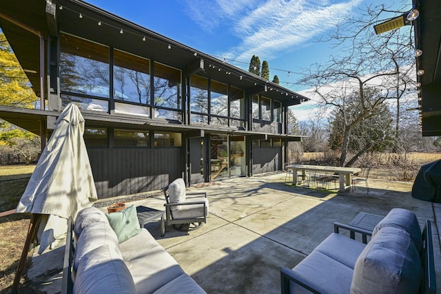
<path fill-rule="evenodd" d="M 282 148 L 253 148 L 253 174 L 282 169 Z"/>

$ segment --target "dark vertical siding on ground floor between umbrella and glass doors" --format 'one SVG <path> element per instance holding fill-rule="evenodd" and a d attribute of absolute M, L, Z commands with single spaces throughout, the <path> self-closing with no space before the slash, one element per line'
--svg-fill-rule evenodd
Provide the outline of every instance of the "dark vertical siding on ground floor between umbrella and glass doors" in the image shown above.
<path fill-rule="evenodd" d="M 176 149 L 88 149 L 98 198 L 156 191 L 183 176 Z"/>

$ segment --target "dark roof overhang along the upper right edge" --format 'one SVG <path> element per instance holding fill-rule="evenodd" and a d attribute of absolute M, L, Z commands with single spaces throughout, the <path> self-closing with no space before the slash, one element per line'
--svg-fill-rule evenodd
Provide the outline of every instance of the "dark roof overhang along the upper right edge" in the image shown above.
<path fill-rule="evenodd" d="M 415 45 L 422 50 L 416 57 L 416 70 L 420 86 L 420 118 L 422 136 L 441 135 L 441 10 L 439 0 L 413 0 L 420 11 L 416 19 Z"/>

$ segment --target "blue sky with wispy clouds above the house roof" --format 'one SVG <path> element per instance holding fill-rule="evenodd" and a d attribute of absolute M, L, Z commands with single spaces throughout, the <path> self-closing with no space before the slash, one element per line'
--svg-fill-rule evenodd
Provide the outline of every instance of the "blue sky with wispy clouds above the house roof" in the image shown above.
<path fill-rule="evenodd" d="M 86 1 L 244 70 L 256 54 L 268 61 L 271 80 L 277 74 L 280 85 L 300 91 L 296 73 L 332 52 L 316 40 L 358 8 L 385 0 Z"/>

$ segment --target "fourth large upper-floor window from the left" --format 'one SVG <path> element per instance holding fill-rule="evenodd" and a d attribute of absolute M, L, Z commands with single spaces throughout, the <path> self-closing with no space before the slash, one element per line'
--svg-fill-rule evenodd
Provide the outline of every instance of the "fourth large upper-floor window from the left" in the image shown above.
<path fill-rule="evenodd" d="M 190 110 L 194 123 L 208 123 L 208 80 L 202 76 L 190 78 Z"/>

